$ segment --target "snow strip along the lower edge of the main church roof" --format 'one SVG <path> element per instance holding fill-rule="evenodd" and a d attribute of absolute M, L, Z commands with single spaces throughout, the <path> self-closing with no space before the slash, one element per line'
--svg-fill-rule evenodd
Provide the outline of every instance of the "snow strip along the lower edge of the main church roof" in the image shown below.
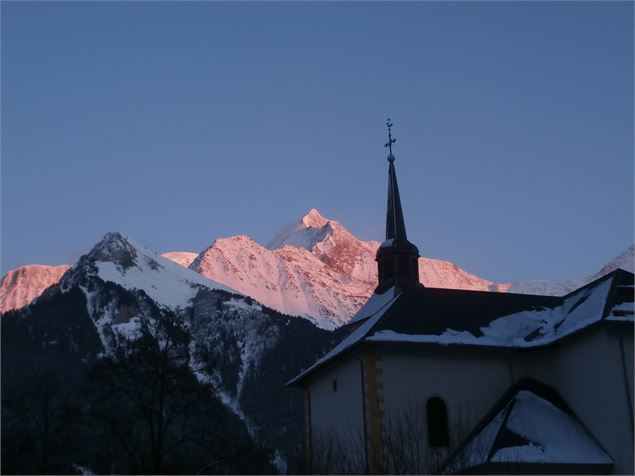
<path fill-rule="evenodd" d="M 502 316 L 480 328 L 476 336 L 466 330 L 446 329 L 441 334 L 404 334 L 380 330 L 366 337 L 371 342 L 468 344 L 497 347 L 537 347 L 549 344 L 602 319 L 612 277 L 565 297 L 554 308 Z M 630 303 L 632 309 L 632 303 Z M 469 316 L 468 316 L 469 317 Z"/>

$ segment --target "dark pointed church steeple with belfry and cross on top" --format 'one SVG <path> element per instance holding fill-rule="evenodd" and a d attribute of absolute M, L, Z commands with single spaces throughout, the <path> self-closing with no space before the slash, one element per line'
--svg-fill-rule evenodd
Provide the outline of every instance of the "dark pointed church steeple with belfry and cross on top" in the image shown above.
<path fill-rule="evenodd" d="M 392 137 L 392 124 L 388 126 L 388 207 L 386 211 L 386 240 L 377 250 L 377 267 L 379 283 L 376 293 L 383 293 L 391 286 L 403 290 L 419 283 L 419 250 L 408 241 L 406 224 L 403 219 L 397 173 L 395 171 L 395 156 L 392 145 L 397 139 Z"/>

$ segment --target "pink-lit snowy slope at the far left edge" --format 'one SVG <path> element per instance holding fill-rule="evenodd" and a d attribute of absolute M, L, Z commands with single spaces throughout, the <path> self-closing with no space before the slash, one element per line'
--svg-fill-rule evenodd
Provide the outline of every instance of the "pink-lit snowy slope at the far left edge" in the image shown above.
<path fill-rule="evenodd" d="M 70 268 L 60 266 L 44 266 L 30 264 L 9 271 L 0 284 L 0 312 L 20 309 L 29 304 L 42 292 L 59 282 L 62 275 Z"/>

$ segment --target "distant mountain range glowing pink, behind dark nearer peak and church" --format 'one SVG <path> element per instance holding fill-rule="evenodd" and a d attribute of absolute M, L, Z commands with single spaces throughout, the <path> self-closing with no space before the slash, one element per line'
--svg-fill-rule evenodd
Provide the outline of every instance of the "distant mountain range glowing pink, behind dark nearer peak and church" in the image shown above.
<path fill-rule="evenodd" d="M 375 253 L 379 244 L 356 238 L 340 223 L 313 209 L 282 227 L 267 246 L 239 235 L 219 238 L 200 254 L 170 252 L 163 257 L 276 311 L 302 316 L 330 329 L 346 323 L 372 294 L 377 285 Z M 563 295 L 617 267 L 632 272 L 633 255 L 634 247 L 630 247 L 598 273 L 565 283 L 499 284 L 448 261 L 424 257 L 419 259 L 419 275 L 428 287 Z M 10 271 L 0 286 L 0 312 L 27 305 L 56 284 L 67 269 L 65 265 L 30 265 Z M 171 268 L 166 273 L 158 283 L 162 289 L 166 276 L 175 274 Z M 135 284 L 131 276 L 126 284 L 154 290 L 159 286 L 153 285 L 152 279 L 144 276 L 143 282 Z"/>

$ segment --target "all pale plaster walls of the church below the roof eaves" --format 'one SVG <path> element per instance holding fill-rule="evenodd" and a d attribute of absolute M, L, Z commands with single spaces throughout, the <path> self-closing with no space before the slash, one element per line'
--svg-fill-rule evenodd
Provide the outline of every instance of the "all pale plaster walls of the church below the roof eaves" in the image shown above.
<path fill-rule="evenodd" d="M 626 384 L 620 341 L 626 362 Z M 633 474 L 633 338 L 598 327 L 544 349 L 506 352 L 466 346 L 378 345 L 380 395 L 386 419 L 431 397 L 447 405 L 450 431 L 470 431 L 512 383 L 535 378 L 554 387 L 614 459 L 614 472 Z M 337 392 L 332 380 L 337 379 Z M 360 363 L 343 356 L 313 375 L 311 437 L 336 435 L 358 449 L 363 432 Z M 357 436 L 353 437 L 356 434 Z M 451 435 L 451 439 L 453 436 Z M 422 444 L 427 442 L 422 439 Z"/>

